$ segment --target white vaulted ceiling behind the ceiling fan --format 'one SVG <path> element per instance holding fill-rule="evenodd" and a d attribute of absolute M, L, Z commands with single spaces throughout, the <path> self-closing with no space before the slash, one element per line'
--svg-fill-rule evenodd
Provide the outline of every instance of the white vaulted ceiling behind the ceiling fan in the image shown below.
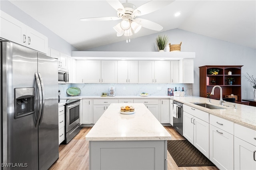
<path fill-rule="evenodd" d="M 139 7 L 149 0 L 128 0 Z M 116 10 L 104 0 L 10 0 L 12 4 L 38 20 L 78 50 L 126 40 L 112 28 L 120 20 L 82 22 L 80 18 L 116 16 Z M 125 0 L 120 0 L 125 3 Z M 174 13 L 180 11 L 177 18 Z M 137 18 L 151 20 L 163 30 L 179 28 L 196 34 L 256 49 L 255 0 L 176 0 Z M 142 28 L 132 38 L 155 34 Z"/>

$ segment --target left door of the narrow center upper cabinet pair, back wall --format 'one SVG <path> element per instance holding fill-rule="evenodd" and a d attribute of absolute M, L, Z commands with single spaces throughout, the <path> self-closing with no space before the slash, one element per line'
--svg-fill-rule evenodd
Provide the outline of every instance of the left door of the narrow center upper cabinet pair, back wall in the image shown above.
<path fill-rule="evenodd" d="M 128 61 L 117 61 L 117 83 L 128 83 Z"/>

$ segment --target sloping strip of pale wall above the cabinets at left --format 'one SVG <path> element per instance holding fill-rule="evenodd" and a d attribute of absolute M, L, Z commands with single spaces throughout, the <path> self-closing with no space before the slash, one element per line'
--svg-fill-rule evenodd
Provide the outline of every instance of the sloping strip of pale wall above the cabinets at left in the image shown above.
<path fill-rule="evenodd" d="M 26 24 L 27 26 L 33 28 L 34 30 L 40 32 L 41 34 L 47 36 L 49 47 L 56 49 L 57 51 L 60 51 L 69 56 L 71 56 L 71 51 L 77 51 L 75 47 L 73 47 L 68 42 L 54 34 L 54 32 L 50 31 L 48 28 L 40 24 L 34 18 L 24 13 L 22 10 L 20 10 L 20 8 L 14 6 L 11 2 L 7 0 L 0 0 L 0 10 L 16 18 L 17 20 Z"/>

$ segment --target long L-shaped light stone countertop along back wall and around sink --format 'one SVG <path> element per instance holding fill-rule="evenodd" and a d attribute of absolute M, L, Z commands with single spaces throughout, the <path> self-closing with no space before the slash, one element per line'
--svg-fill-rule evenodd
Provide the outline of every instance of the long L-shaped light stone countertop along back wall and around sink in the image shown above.
<path fill-rule="evenodd" d="M 205 111 L 212 115 L 221 117 L 228 121 L 232 121 L 239 125 L 243 125 L 248 128 L 252 128 L 256 130 L 256 107 L 242 105 L 237 103 L 224 103 L 224 106 L 219 105 L 219 100 L 211 99 L 212 103 L 209 103 L 207 98 L 198 97 L 198 96 L 185 96 L 185 97 L 173 97 L 173 96 L 148 96 L 141 97 L 137 96 L 114 96 L 114 97 L 101 97 L 101 96 L 73 96 L 73 97 L 65 97 L 65 99 L 173 99 L 184 103 L 185 105 L 194 107 L 196 109 Z M 208 109 L 193 103 L 209 103 L 211 105 L 216 105 L 219 107 L 223 107 L 225 109 Z M 233 105 L 236 104 L 236 109 L 233 109 Z M 227 107 L 228 106 L 228 107 Z"/>

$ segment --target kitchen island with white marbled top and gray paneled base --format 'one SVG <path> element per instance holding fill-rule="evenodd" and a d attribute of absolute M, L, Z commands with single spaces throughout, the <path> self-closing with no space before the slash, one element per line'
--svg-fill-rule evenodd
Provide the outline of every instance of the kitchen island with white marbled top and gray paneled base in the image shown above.
<path fill-rule="evenodd" d="M 171 135 L 144 104 L 130 105 L 135 113 L 125 115 L 124 103 L 112 103 L 86 135 L 91 170 L 167 169 Z"/>

